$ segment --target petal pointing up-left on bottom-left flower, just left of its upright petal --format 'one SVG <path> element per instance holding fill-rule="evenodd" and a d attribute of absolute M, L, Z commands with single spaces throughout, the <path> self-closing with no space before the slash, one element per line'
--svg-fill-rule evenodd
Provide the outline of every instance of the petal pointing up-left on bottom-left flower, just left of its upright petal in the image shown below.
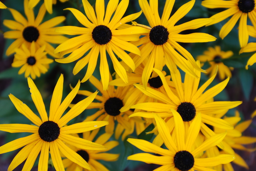
<path fill-rule="evenodd" d="M 45 110 L 44 101 L 42 99 L 40 92 L 38 91 L 37 87 L 35 86 L 35 83 L 30 77 L 27 78 L 27 82 L 29 84 L 32 100 L 35 104 L 35 107 L 38 110 L 38 113 L 42 118 L 42 122 L 48 121 L 48 116 Z"/>

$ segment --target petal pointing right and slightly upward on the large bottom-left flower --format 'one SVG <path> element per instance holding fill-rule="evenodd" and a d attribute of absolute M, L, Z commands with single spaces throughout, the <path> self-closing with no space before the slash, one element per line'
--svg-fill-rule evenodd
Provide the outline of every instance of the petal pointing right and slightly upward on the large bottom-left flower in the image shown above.
<path fill-rule="evenodd" d="M 61 133 L 71 134 L 71 133 L 82 133 L 86 131 L 91 131 L 93 129 L 97 129 L 108 125 L 107 121 L 87 121 L 82 123 L 72 124 L 66 127 L 61 127 Z"/>

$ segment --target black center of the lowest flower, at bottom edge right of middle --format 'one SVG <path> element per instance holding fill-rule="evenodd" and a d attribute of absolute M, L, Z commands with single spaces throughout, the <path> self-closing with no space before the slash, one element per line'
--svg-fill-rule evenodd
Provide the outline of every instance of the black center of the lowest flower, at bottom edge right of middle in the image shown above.
<path fill-rule="evenodd" d="M 188 171 L 194 166 L 194 157 L 188 151 L 179 151 L 174 156 L 174 165 L 180 171 Z"/>

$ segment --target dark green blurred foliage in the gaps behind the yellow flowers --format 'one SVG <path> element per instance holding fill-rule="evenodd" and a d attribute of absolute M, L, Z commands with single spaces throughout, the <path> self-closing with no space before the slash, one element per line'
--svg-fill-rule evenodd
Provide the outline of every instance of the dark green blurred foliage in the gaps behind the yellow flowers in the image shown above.
<path fill-rule="evenodd" d="M 18 10 L 20 13 L 22 13 L 25 16 L 24 8 L 23 8 L 23 0 L 1 0 L 7 7 L 14 8 Z M 176 0 L 174 3 L 173 11 L 171 15 L 183 4 L 187 3 L 189 0 Z M 197 18 L 209 18 L 210 16 L 214 15 L 215 13 L 223 11 L 222 9 L 207 9 L 201 5 L 201 0 L 196 0 L 195 5 L 191 9 L 191 11 L 182 18 L 177 24 L 181 24 L 193 19 Z M 95 0 L 89 0 L 89 3 L 93 6 L 95 6 Z M 42 0 L 40 3 L 34 8 L 35 16 L 38 13 L 38 9 L 42 4 Z M 105 7 L 108 4 L 108 0 L 105 0 Z M 159 15 L 162 15 L 163 7 L 165 5 L 164 0 L 159 0 Z M 53 5 L 53 14 L 49 14 L 46 12 L 45 18 L 43 21 L 49 20 L 55 16 L 65 16 L 66 20 L 62 23 L 60 26 L 82 26 L 74 17 L 74 15 L 68 11 L 63 10 L 65 8 L 76 8 L 79 9 L 82 13 L 84 13 L 84 9 L 82 6 L 82 0 L 69 0 L 65 3 L 61 3 L 60 1 L 57 1 L 56 5 Z M 128 9 L 124 16 L 127 16 L 129 14 L 139 12 L 140 6 L 138 3 L 138 0 L 130 0 Z M 1 9 L 0 10 L 0 124 L 9 124 L 9 123 L 20 123 L 20 124 L 30 124 L 30 121 L 20 114 L 14 105 L 12 104 L 11 100 L 8 97 L 8 94 L 14 94 L 15 97 L 19 98 L 21 101 L 23 101 L 25 104 L 27 104 L 31 110 L 33 110 L 34 113 L 37 113 L 37 110 L 33 104 L 33 101 L 30 96 L 29 87 L 27 85 L 27 79 L 24 77 L 24 75 L 18 75 L 19 68 L 12 68 L 11 63 L 14 58 L 14 55 L 11 55 L 10 57 L 7 57 L 5 55 L 5 51 L 10 46 L 10 44 L 14 41 L 11 39 L 4 39 L 3 38 L 3 32 L 8 31 L 8 28 L 3 26 L 3 20 L 4 19 L 10 19 L 13 20 L 13 17 L 11 15 L 11 12 L 8 11 L 8 9 Z M 238 41 L 238 23 L 233 28 L 233 30 L 222 40 L 219 37 L 219 31 L 221 27 L 227 22 L 228 19 L 211 25 L 207 27 L 201 27 L 196 30 L 186 30 L 182 32 L 182 34 L 189 34 L 192 32 L 204 32 L 211 34 L 217 38 L 214 42 L 207 42 L 207 43 L 182 43 L 181 45 L 186 48 L 194 58 L 197 57 L 197 55 L 203 54 L 205 50 L 207 50 L 208 47 L 214 47 L 216 45 L 221 46 L 221 50 L 223 51 L 233 51 L 234 55 L 223 61 L 223 63 L 229 67 L 234 67 L 234 70 L 232 71 L 232 78 L 230 78 L 229 83 L 227 84 L 226 88 L 219 93 L 216 97 L 216 101 L 243 101 L 243 103 L 238 106 L 238 109 L 242 120 L 248 120 L 250 118 L 250 115 L 252 112 L 256 109 L 256 102 L 253 101 L 256 97 L 256 64 L 253 66 L 249 66 L 248 70 L 245 70 L 246 62 L 248 61 L 249 57 L 253 53 L 242 53 L 239 54 L 240 45 Z M 135 20 L 137 23 L 148 25 L 148 22 L 142 13 L 142 15 Z M 128 23 L 131 24 L 131 23 Z M 250 23 L 249 23 L 250 24 Z M 251 24 L 250 24 L 251 25 Z M 69 36 L 71 37 L 71 36 Z M 255 38 L 250 37 L 249 42 L 256 42 Z M 53 45 L 54 46 L 54 45 Z M 56 47 L 56 46 L 55 46 Z M 107 54 L 108 55 L 108 54 Z M 52 58 L 52 57 L 49 57 Z M 109 61 L 109 67 L 110 72 L 113 74 L 113 66 L 112 62 L 110 61 L 110 58 L 108 57 Z M 82 79 L 84 77 L 84 74 L 86 72 L 86 68 L 84 68 L 82 71 L 80 71 L 77 75 L 72 74 L 72 70 L 75 66 L 75 62 L 62 64 L 53 62 L 50 64 L 50 69 L 46 74 L 42 74 L 40 78 L 36 78 L 34 80 L 35 85 L 39 89 L 39 91 L 42 94 L 42 97 L 44 99 L 44 103 L 46 106 L 46 111 L 49 111 L 49 105 L 50 105 L 50 99 L 52 97 L 52 92 L 54 89 L 54 86 L 57 82 L 57 79 L 59 78 L 60 74 L 64 74 L 64 89 L 63 89 L 63 97 L 67 96 L 67 94 L 71 91 L 70 86 L 75 86 L 79 79 Z M 207 69 L 209 67 L 209 63 L 205 63 L 203 69 Z M 167 70 L 166 70 L 167 71 Z M 167 73 L 169 73 L 167 71 Z M 181 71 L 182 77 L 184 79 L 184 73 Z M 94 71 L 93 74 L 95 77 L 100 79 L 99 77 L 99 60 L 98 65 Z M 202 85 L 206 80 L 208 79 L 208 76 L 202 73 L 202 77 L 200 80 L 200 85 Z M 211 85 L 208 88 L 211 88 L 212 86 L 216 85 L 217 83 L 221 82 L 218 79 L 218 76 L 214 79 L 214 81 L 211 83 Z M 86 81 L 84 83 L 81 83 L 80 90 L 89 90 L 91 92 L 95 91 L 95 88 L 89 81 Z M 76 103 L 80 100 L 82 100 L 84 96 L 77 95 L 73 103 Z M 235 109 L 231 109 L 228 111 L 227 116 L 234 116 Z M 88 115 L 91 115 L 95 112 L 95 109 L 85 110 L 82 114 L 80 114 L 78 117 L 76 117 L 71 122 L 80 122 L 83 121 L 84 118 Z M 149 130 L 153 129 L 153 125 L 150 125 L 145 132 L 148 132 Z M 103 128 L 101 130 L 101 133 L 103 133 Z M 253 123 L 251 124 L 250 128 L 245 132 L 245 135 L 250 136 L 256 136 L 256 120 L 254 119 Z M 17 139 L 19 137 L 24 137 L 26 133 L 6 133 L 6 132 L 0 132 L 0 145 L 3 145 L 7 142 L 10 142 L 14 139 Z M 130 137 L 136 136 L 131 135 Z M 146 139 L 149 141 L 153 140 L 153 134 L 145 136 L 144 134 L 140 134 L 138 136 L 139 139 Z M 113 138 L 114 139 L 114 138 Z M 137 161 L 128 161 L 127 156 L 138 153 L 140 150 L 138 148 L 133 147 L 130 143 L 127 141 L 119 140 L 120 145 L 114 149 L 112 149 L 110 152 L 112 153 L 120 153 L 120 158 L 116 162 L 104 162 L 102 161 L 102 164 L 104 164 L 109 170 L 140 170 L 143 171 L 143 169 L 146 171 L 147 169 L 153 170 L 154 168 L 157 168 L 158 166 L 152 166 L 148 164 L 144 164 L 142 162 Z M 0 155 L 0 166 L 3 165 L 3 167 L 0 167 L 1 169 L 4 169 L 6 164 L 5 170 L 7 170 L 8 164 L 10 164 L 13 156 L 18 151 L 5 153 L 3 155 Z M 250 154 L 250 153 L 249 153 Z M 256 153 L 252 153 L 250 155 L 253 155 L 253 159 L 255 159 Z M 245 156 L 245 161 L 249 164 L 251 169 L 253 160 L 250 161 L 250 157 Z M 255 165 L 256 162 L 254 162 Z M 21 167 L 16 168 L 16 170 L 21 170 Z M 125 169 L 126 168 L 126 169 Z M 243 168 L 238 167 L 238 170 Z"/>

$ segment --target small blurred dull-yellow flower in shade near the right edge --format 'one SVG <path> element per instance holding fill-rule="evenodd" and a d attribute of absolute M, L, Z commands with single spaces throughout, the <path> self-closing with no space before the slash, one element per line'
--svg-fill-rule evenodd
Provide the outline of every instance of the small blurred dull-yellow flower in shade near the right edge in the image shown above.
<path fill-rule="evenodd" d="M 208 50 L 204 51 L 203 55 L 199 55 L 196 57 L 200 62 L 208 61 L 210 63 L 210 67 L 206 69 L 206 72 L 209 77 L 212 77 L 215 74 L 215 71 L 218 67 L 218 75 L 221 80 L 226 77 L 232 77 L 231 71 L 232 67 L 227 67 L 222 60 L 227 59 L 233 55 L 232 51 L 222 51 L 220 46 L 208 47 Z"/>

